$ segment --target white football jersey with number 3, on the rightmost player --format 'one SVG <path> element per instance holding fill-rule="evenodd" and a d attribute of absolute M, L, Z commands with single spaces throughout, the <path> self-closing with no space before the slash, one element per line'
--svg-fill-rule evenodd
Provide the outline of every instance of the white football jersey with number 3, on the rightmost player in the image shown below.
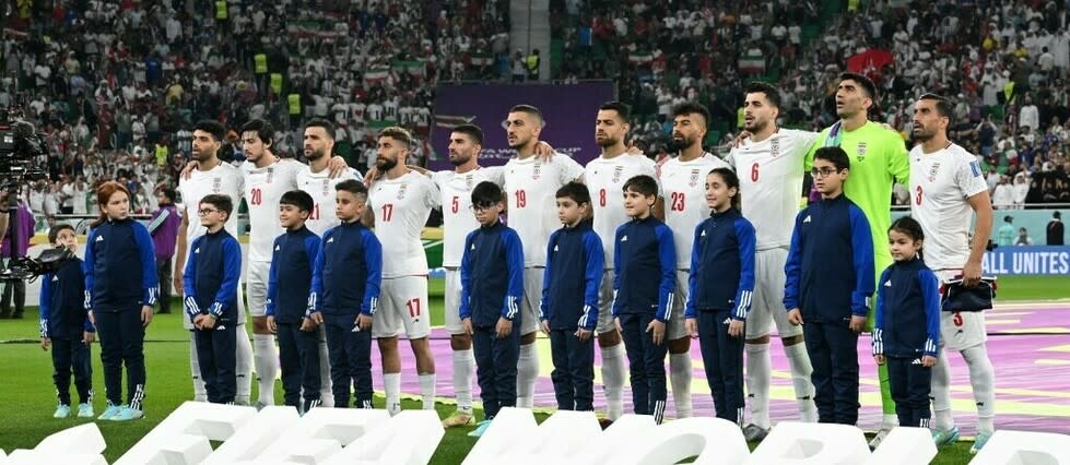
<path fill-rule="evenodd" d="M 961 269 L 969 259 L 966 199 L 988 190 L 977 158 L 957 144 L 925 154 L 910 150 L 910 215 L 925 233 L 925 263 L 932 270 Z"/>

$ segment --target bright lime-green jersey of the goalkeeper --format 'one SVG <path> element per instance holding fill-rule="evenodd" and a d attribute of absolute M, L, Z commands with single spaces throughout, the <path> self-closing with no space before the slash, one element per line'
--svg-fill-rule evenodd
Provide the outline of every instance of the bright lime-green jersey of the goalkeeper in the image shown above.
<path fill-rule="evenodd" d="M 887 228 L 892 226 L 892 184 L 909 186 L 910 159 L 906 144 L 898 133 L 881 124 L 867 121 L 854 131 L 839 131 L 838 144 L 826 144 L 832 128 L 825 128 L 807 154 L 806 170 L 813 167 L 813 154 L 826 145 L 839 145 L 850 158 L 850 175 L 844 182 L 844 194 L 850 199 L 869 220 L 873 236 L 873 250 L 878 277 L 892 264 L 887 248 Z"/>

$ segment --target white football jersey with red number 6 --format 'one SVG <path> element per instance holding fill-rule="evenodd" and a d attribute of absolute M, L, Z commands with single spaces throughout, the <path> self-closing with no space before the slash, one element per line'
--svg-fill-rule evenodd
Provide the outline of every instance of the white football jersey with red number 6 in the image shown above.
<path fill-rule="evenodd" d="M 756 230 L 755 250 L 791 246 L 807 153 L 820 135 L 781 128 L 762 142 L 744 140 L 728 155 L 739 176 L 741 212 Z"/>

